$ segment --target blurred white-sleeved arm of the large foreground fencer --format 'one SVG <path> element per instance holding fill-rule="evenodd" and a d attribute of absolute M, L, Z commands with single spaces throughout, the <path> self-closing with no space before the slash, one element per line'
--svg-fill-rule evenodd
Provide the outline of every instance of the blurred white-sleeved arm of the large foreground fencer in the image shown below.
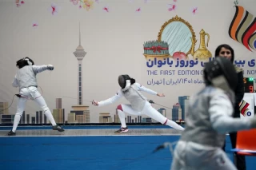
<path fill-rule="evenodd" d="M 233 110 L 230 99 L 224 93 L 215 94 L 214 97 L 210 99 L 210 122 L 217 132 L 226 134 L 227 132 L 237 132 L 255 126 L 253 125 L 255 123 L 253 123 L 251 119 L 231 117 Z"/>

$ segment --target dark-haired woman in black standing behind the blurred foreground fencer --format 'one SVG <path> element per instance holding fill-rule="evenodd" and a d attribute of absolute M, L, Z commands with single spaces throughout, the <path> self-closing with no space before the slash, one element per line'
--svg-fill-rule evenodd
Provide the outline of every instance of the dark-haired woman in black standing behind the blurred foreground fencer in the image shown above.
<path fill-rule="evenodd" d="M 230 47 L 230 45 L 222 44 L 218 45 L 215 50 L 215 57 L 226 57 L 230 59 L 232 63 L 234 63 L 234 49 Z M 235 93 L 235 104 L 234 104 L 234 113 L 233 117 L 240 117 L 239 103 L 242 101 L 244 97 L 244 83 L 243 83 L 243 70 L 235 65 L 235 69 L 238 75 L 238 85 L 234 90 Z M 232 148 L 235 148 L 237 141 L 237 132 L 230 132 L 230 140 L 232 144 Z M 225 151 L 225 146 L 223 146 L 223 150 Z M 238 170 L 246 170 L 246 158 L 245 156 L 238 155 L 234 153 L 234 164 L 238 168 Z"/>

